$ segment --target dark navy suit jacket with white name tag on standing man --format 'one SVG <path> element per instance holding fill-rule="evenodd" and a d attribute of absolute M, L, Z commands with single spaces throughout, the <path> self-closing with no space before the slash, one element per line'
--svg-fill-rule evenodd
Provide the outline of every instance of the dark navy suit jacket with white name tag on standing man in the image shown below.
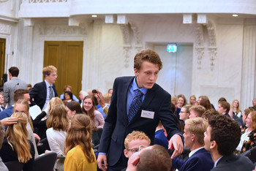
<path fill-rule="evenodd" d="M 165 126 L 169 140 L 173 134 L 181 134 L 170 111 L 170 94 L 156 83 L 153 88 L 148 89 L 138 113 L 130 123 L 128 122 L 127 92 L 133 79 L 134 77 L 118 77 L 113 85 L 111 104 L 99 145 L 99 152 L 108 153 L 108 166 L 110 167 L 117 163 L 124 164 L 124 167 L 127 166 L 127 159 L 124 157 L 124 139 L 134 130 L 145 132 L 151 139 L 152 145 L 155 129 L 160 120 Z M 142 110 L 154 112 L 154 118 L 140 117 Z"/>

